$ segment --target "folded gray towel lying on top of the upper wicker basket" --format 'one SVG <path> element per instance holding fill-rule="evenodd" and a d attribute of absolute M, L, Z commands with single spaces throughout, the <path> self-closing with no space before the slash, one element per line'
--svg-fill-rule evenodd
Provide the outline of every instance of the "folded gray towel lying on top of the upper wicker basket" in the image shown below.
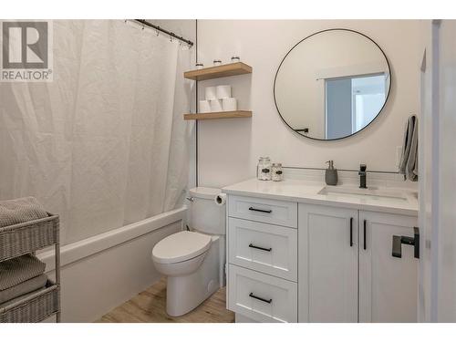
<path fill-rule="evenodd" d="M 47 217 L 43 206 L 35 197 L 0 201 L 0 228 Z"/>

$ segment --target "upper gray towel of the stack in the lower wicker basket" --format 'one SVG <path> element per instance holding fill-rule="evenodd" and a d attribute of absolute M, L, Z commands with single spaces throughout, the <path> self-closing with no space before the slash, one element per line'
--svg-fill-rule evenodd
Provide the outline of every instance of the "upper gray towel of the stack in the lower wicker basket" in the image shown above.
<path fill-rule="evenodd" d="M 5 290 L 45 272 L 46 264 L 26 254 L 0 263 L 0 290 Z"/>

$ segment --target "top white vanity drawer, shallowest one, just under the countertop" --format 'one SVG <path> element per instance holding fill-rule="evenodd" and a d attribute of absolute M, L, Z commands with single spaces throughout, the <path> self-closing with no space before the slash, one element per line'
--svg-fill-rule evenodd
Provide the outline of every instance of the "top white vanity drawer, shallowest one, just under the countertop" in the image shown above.
<path fill-rule="evenodd" d="M 240 219 L 297 228 L 297 203 L 263 198 L 228 197 L 228 215 Z"/>

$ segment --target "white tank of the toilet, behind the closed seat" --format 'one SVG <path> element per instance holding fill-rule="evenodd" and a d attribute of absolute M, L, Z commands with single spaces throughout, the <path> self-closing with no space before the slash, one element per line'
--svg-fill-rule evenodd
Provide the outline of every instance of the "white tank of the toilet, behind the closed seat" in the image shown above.
<path fill-rule="evenodd" d="M 190 191 L 192 197 L 192 229 L 202 233 L 224 235 L 226 227 L 226 205 L 217 205 L 215 198 L 221 190 L 216 188 L 197 187 Z"/>

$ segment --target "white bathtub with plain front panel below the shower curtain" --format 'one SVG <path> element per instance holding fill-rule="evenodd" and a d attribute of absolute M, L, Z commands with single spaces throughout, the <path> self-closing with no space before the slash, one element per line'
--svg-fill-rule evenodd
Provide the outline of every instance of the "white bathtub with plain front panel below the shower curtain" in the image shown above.
<path fill-rule="evenodd" d="M 186 212 L 183 206 L 61 247 L 62 322 L 93 322 L 157 282 L 152 247 L 181 231 Z M 53 251 L 37 256 L 52 277 Z"/>

